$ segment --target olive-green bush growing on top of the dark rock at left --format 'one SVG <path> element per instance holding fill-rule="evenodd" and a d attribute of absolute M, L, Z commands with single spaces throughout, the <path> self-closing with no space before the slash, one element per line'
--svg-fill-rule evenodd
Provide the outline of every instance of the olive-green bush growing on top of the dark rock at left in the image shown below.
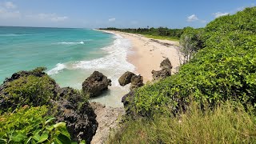
<path fill-rule="evenodd" d="M 54 98 L 54 85 L 48 75 L 36 77 L 34 75 L 23 76 L 12 82 L 6 83 L 6 88 L 0 96 L 14 110 L 17 106 L 42 106 Z M 8 105 L 7 104 L 7 105 Z M 5 107 L 2 107 L 5 108 Z"/>

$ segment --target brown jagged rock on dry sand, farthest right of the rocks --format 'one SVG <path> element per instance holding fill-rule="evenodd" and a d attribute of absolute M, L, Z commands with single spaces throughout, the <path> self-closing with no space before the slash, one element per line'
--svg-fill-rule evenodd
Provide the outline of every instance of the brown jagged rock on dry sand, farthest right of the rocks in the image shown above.
<path fill-rule="evenodd" d="M 158 79 L 162 79 L 162 78 L 167 78 L 171 75 L 171 69 L 172 69 L 172 65 L 170 63 L 169 58 L 164 59 L 161 63 L 160 63 L 160 67 L 162 70 L 152 70 L 152 77 L 153 77 L 153 81 L 157 81 Z"/>

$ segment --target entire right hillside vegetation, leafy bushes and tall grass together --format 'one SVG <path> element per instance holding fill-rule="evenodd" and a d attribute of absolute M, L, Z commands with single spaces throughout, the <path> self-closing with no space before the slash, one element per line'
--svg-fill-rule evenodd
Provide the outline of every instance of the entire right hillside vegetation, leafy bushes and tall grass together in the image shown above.
<path fill-rule="evenodd" d="M 251 7 L 184 30 L 186 64 L 135 91 L 132 118 L 110 143 L 256 142 L 255 23 Z"/>

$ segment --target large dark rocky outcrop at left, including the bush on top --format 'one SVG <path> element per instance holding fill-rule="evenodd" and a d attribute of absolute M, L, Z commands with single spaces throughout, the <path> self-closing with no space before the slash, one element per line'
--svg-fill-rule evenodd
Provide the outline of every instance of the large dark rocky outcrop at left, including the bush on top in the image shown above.
<path fill-rule="evenodd" d="M 90 143 L 98 127 L 90 103 L 78 90 L 60 88 L 43 70 L 46 69 L 20 71 L 6 78 L 0 86 L 0 110 L 5 112 L 13 111 L 17 106 L 46 105 L 48 115 L 54 116 L 57 122 L 66 122 L 73 141 L 86 140 Z"/>

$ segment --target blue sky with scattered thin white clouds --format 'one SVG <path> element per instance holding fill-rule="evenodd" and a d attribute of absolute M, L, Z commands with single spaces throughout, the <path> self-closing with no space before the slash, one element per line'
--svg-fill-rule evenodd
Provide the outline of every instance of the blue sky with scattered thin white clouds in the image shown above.
<path fill-rule="evenodd" d="M 0 26 L 203 27 L 256 0 L 0 0 Z"/>

